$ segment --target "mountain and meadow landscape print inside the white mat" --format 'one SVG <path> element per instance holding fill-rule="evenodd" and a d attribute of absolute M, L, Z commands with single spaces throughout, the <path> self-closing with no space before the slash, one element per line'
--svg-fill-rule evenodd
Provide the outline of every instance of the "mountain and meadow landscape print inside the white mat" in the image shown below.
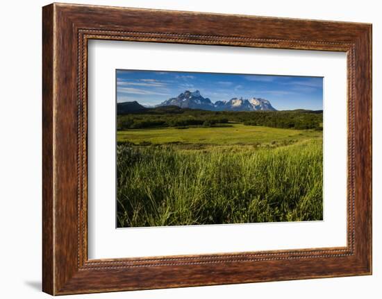
<path fill-rule="evenodd" d="M 323 220 L 323 78 L 116 70 L 117 228 Z"/>

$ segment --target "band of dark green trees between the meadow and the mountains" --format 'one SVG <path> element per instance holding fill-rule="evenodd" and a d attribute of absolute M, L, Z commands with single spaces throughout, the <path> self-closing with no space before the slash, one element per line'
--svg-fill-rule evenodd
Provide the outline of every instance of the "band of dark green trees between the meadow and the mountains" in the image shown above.
<path fill-rule="evenodd" d="M 169 107 L 151 108 L 144 112 L 117 115 L 118 130 L 139 128 L 167 128 L 188 126 L 228 126 L 244 123 L 247 126 L 267 126 L 297 130 L 322 130 L 322 111 L 207 111 Z"/>

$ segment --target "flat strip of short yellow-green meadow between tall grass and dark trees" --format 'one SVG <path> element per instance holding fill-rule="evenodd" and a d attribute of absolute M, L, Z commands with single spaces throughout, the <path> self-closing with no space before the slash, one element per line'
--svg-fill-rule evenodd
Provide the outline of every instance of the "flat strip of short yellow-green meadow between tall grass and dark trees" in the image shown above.
<path fill-rule="evenodd" d="M 263 126 L 244 126 L 239 123 L 222 128 L 158 128 L 123 130 L 117 132 L 117 141 L 140 144 L 166 144 L 181 142 L 186 144 L 267 144 L 288 140 L 302 141 L 312 138 L 322 138 L 322 133 L 315 130 L 292 130 L 268 128 Z"/>

